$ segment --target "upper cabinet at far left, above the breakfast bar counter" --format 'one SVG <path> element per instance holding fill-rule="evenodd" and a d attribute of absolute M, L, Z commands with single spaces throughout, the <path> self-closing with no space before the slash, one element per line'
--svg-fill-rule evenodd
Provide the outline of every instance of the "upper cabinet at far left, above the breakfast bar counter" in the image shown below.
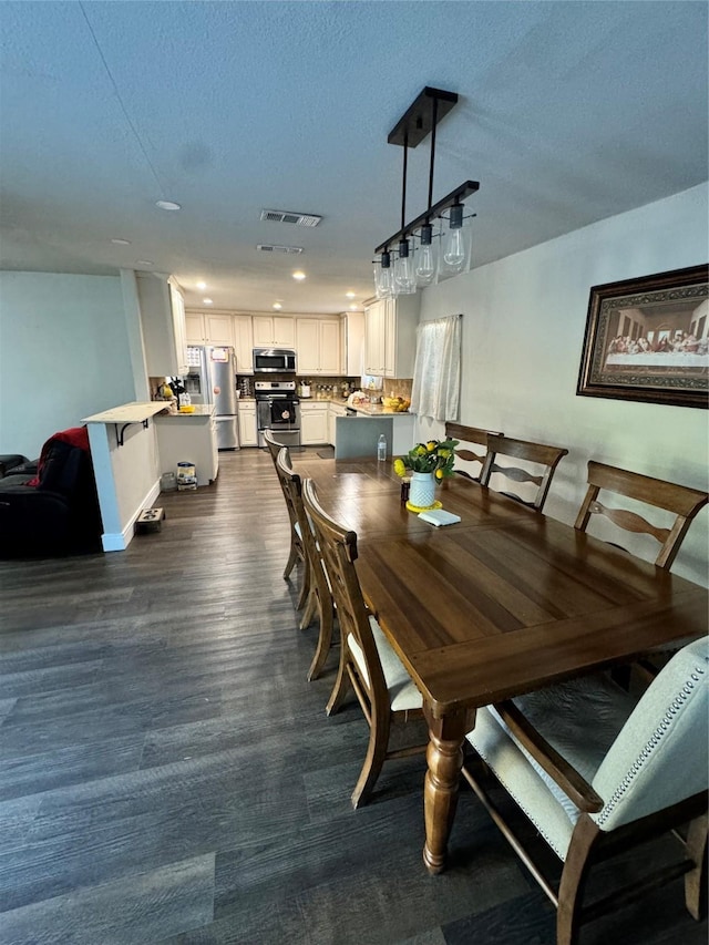
<path fill-rule="evenodd" d="M 185 304 L 169 276 L 138 273 L 135 277 L 148 377 L 187 373 Z"/>

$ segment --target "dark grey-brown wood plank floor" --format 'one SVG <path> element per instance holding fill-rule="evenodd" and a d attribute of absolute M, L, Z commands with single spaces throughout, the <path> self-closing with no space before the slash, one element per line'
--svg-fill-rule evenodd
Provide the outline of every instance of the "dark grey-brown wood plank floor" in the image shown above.
<path fill-rule="evenodd" d="M 367 725 L 325 715 L 336 653 L 306 681 L 270 459 L 220 463 L 126 552 L 0 562 L 0 943 L 553 945 L 470 791 L 427 874 L 423 757 L 352 811 Z M 582 933 L 706 941 L 681 881 Z"/>

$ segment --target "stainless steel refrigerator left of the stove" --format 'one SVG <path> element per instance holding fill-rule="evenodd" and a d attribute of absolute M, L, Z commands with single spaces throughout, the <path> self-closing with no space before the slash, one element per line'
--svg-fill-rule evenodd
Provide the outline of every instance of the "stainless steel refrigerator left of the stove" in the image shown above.
<path fill-rule="evenodd" d="M 214 403 L 217 449 L 239 449 L 236 353 L 234 348 L 189 347 L 185 389 L 193 403 Z"/>

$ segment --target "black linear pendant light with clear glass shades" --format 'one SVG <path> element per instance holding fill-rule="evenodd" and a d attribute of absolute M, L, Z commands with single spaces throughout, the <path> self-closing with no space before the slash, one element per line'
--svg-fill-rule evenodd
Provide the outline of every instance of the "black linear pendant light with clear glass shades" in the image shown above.
<path fill-rule="evenodd" d="M 463 273 L 470 267 L 472 240 L 470 216 L 465 217 L 465 197 L 480 188 L 476 181 L 465 181 L 448 196 L 433 204 L 433 168 L 435 162 L 435 129 L 458 102 L 455 92 L 427 85 L 390 131 L 389 144 L 403 147 L 401 187 L 401 229 L 374 250 L 374 289 L 378 298 L 411 294 L 417 287 L 429 286 L 439 278 Z M 431 134 L 429 166 L 429 199 L 425 213 L 411 223 L 405 222 L 408 150 Z M 434 224 L 445 219 L 448 229 Z M 392 258 L 393 257 L 393 258 Z"/>

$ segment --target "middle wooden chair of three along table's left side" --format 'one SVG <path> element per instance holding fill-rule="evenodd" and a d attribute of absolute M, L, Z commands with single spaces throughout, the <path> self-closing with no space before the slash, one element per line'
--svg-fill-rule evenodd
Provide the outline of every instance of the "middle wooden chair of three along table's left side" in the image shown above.
<path fill-rule="evenodd" d="M 298 525 L 298 535 L 302 542 L 308 566 L 308 596 L 305 602 L 302 619 L 300 620 L 300 629 L 304 630 L 306 627 L 309 627 L 316 614 L 320 625 L 318 644 L 310 669 L 308 670 L 308 680 L 311 680 L 317 679 L 320 675 L 332 645 L 332 625 L 335 618 L 332 595 L 322 565 L 320 548 L 316 542 L 312 526 L 302 504 L 301 480 L 292 470 L 287 446 L 282 446 L 276 458 L 276 472 L 278 473 L 280 487 L 286 496 L 286 504 L 294 512 Z"/>

